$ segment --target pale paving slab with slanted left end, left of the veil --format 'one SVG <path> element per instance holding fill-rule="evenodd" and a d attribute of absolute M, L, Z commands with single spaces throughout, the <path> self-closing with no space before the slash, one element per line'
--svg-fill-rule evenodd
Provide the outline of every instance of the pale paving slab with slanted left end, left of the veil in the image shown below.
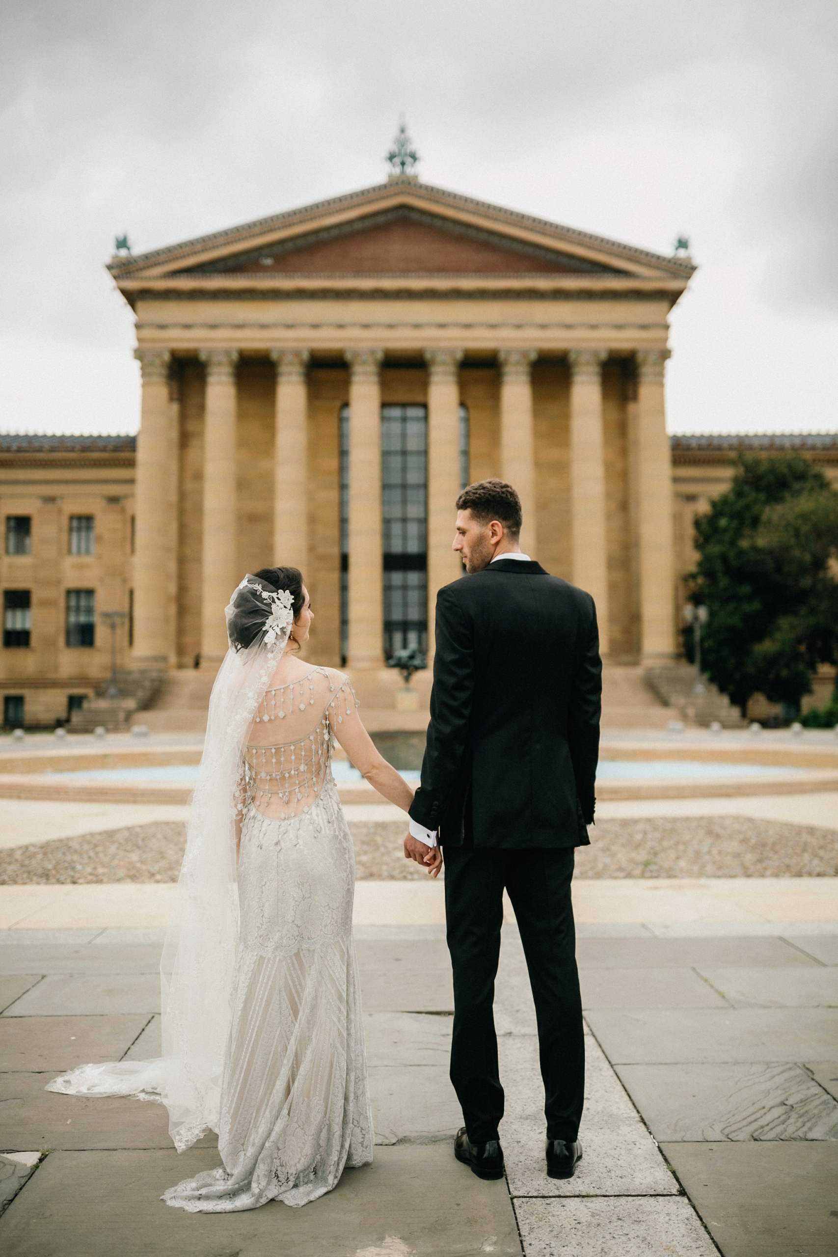
<path fill-rule="evenodd" d="M 6 1017 L 98 1017 L 158 1013 L 160 977 L 151 973 L 52 973 L 15 1001 Z"/>

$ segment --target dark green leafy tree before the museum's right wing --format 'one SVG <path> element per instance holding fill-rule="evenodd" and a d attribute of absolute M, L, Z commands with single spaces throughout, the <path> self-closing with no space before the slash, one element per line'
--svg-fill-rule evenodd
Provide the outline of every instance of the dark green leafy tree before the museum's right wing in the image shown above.
<path fill-rule="evenodd" d="M 696 543 L 688 587 L 710 608 L 710 679 L 743 709 L 756 690 L 797 708 L 838 651 L 838 493 L 803 458 L 743 456 Z"/>

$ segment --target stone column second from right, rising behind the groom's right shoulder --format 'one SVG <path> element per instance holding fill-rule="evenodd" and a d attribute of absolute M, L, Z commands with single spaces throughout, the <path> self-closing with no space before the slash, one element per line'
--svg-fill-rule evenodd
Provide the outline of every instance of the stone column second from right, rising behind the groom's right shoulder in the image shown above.
<path fill-rule="evenodd" d="M 570 349 L 570 529 L 573 583 L 597 603 L 599 649 L 608 654 L 608 534 L 602 365 L 607 349 Z"/>

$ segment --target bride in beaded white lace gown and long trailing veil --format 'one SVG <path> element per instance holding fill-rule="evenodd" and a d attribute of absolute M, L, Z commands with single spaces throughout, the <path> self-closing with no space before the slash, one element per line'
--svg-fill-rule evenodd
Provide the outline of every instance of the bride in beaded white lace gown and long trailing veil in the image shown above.
<path fill-rule="evenodd" d="M 293 567 L 246 576 L 226 608 L 178 904 L 161 962 L 162 1056 L 85 1065 L 68 1095 L 162 1101 L 178 1151 L 207 1130 L 222 1166 L 170 1188 L 191 1212 L 300 1205 L 372 1160 L 352 903 L 354 852 L 334 740 L 407 811 L 348 678 L 294 657 L 313 612 Z M 428 848 L 438 872 L 438 848 Z"/>

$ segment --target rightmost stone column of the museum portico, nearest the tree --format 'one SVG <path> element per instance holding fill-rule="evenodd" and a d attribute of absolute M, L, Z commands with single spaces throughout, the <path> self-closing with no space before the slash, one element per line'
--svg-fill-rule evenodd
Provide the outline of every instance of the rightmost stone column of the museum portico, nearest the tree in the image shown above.
<path fill-rule="evenodd" d="M 636 354 L 641 661 L 646 666 L 675 657 L 672 458 L 663 400 L 668 356 L 668 349 Z"/>

